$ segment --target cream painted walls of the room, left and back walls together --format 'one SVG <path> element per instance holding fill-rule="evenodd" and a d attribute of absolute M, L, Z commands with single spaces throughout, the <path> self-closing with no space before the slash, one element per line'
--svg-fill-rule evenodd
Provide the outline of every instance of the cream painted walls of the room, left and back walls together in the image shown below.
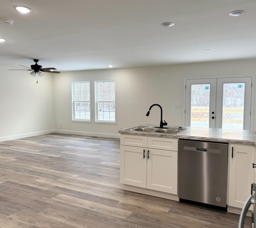
<path fill-rule="evenodd" d="M 182 125 L 183 82 L 188 77 L 255 75 L 256 59 L 160 67 L 45 73 L 39 78 L 28 71 L 0 67 L 0 141 L 57 131 L 118 137 L 118 131 L 142 124 L 160 123 L 160 109 L 168 125 Z M 116 79 L 117 124 L 71 121 L 71 81 Z M 256 85 L 255 85 L 256 86 Z M 256 94 L 254 94 L 254 102 Z M 254 105 L 254 108 L 256 105 Z M 59 123 L 62 123 L 60 127 Z M 256 111 L 254 111 L 256 130 Z"/>

